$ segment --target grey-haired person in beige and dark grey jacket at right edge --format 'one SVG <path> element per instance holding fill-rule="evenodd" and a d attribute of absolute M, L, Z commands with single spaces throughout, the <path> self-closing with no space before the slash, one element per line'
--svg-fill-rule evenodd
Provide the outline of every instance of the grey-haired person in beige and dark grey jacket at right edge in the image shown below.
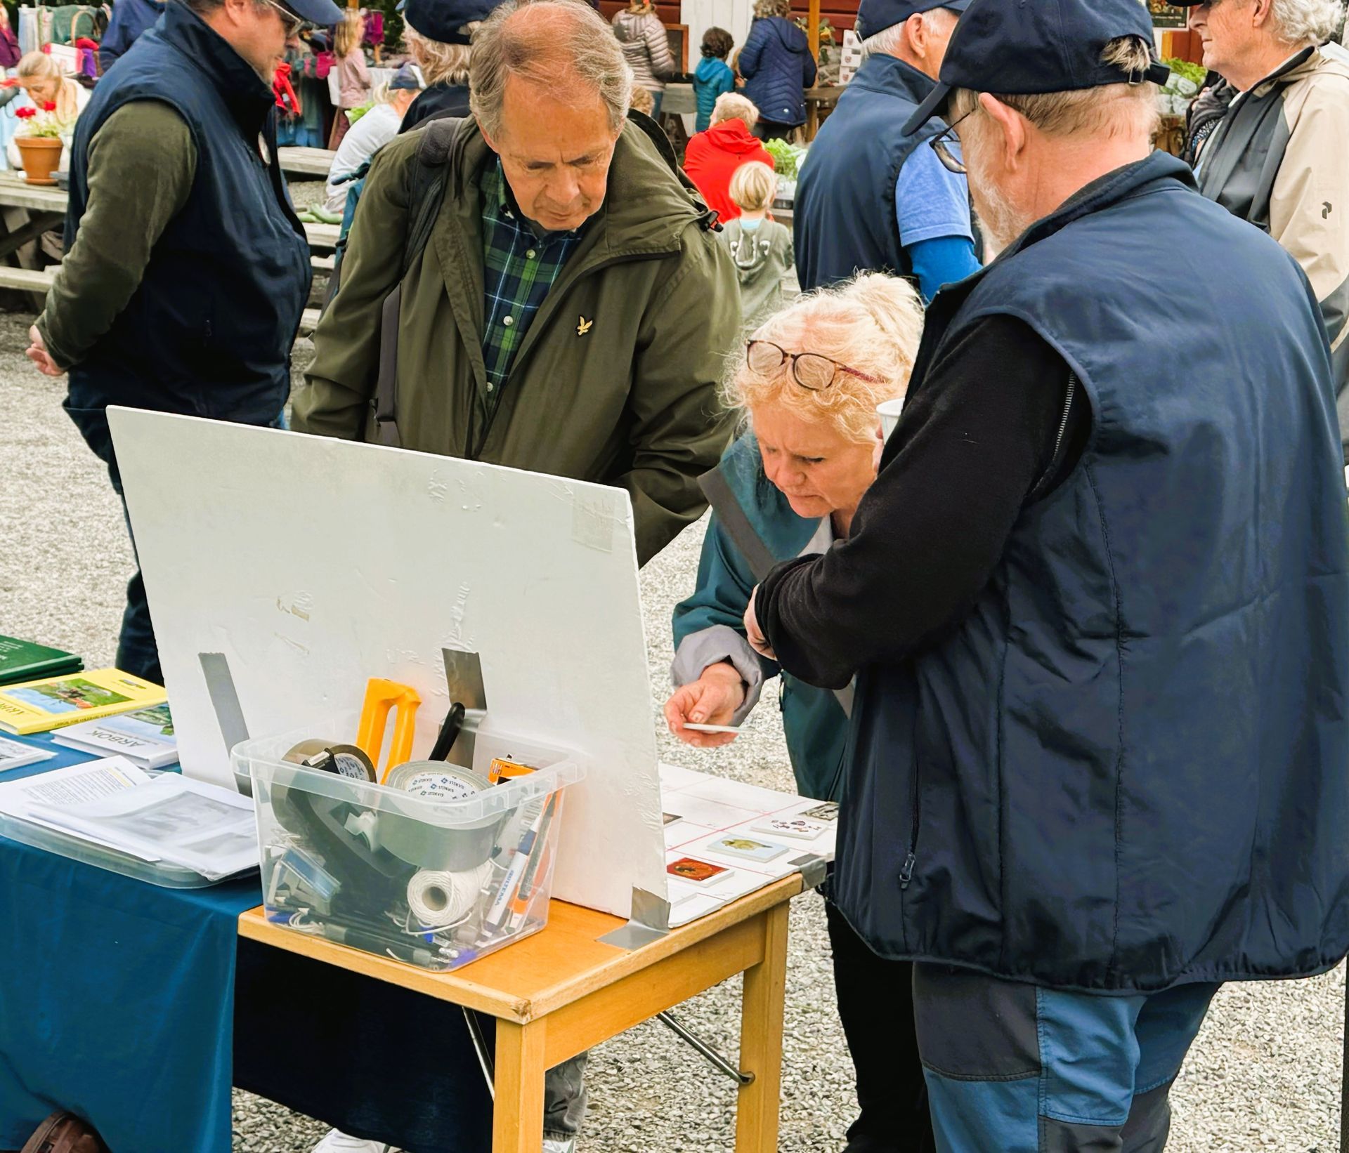
<path fill-rule="evenodd" d="M 1330 338 L 1349 463 L 1349 51 L 1338 0 L 1178 3 L 1238 94 L 1199 152 L 1199 191 L 1302 266 Z M 1252 286 L 1252 291 L 1257 291 Z"/>

